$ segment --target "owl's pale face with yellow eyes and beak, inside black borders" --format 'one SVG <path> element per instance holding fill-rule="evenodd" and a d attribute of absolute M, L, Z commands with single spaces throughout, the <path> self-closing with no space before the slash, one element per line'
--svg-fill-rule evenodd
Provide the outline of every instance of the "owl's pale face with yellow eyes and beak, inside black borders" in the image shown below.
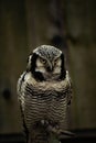
<path fill-rule="evenodd" d="M 47 61 L 41 57 L 36 59 L 35 72 L 39 72 L 43 75 L 44 79 L 57 79 L 61 75 L 61 58 L 57 57 L 54 61 Z"/>

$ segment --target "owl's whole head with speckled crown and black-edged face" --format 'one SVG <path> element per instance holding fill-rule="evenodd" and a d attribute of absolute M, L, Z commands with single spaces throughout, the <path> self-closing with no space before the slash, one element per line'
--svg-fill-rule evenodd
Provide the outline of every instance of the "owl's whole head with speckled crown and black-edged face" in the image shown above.
<path fill-rule="evenodd" d="M 36 47 L 28 59 L 28 72 L 36 80 L 58 80 L 65 78 L 64 54 L 54 46 Z"/>

